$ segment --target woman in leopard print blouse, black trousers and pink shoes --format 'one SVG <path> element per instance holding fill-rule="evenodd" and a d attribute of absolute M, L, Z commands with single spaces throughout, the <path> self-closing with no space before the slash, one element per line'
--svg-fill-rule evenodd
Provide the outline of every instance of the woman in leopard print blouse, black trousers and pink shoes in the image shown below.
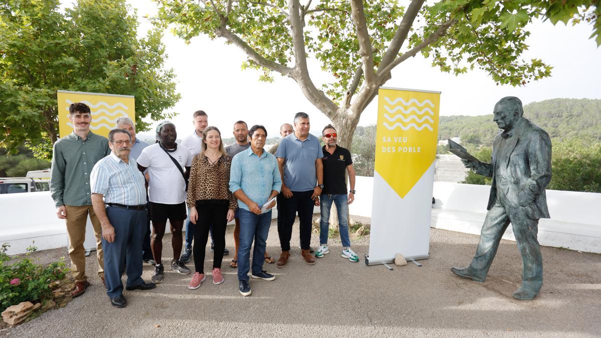
<path fill-rule="evenodd" d="M 194 266 L 195 274 L 188 287 L 198 289 L 205 280 L 204 251 L 209 237 L 209 228 L 213 226 L 213 284 L 224 281 L 221 272 L 225 248 L 225 226 L 234 219 L 237 207 L 236 197 L 230 192 L 231 159 L 224 150 L 221 132 L 210 126 L 203 131 L 203 146 L 192 159 L 188 186 L 190 221 L 194 226 Z"/>

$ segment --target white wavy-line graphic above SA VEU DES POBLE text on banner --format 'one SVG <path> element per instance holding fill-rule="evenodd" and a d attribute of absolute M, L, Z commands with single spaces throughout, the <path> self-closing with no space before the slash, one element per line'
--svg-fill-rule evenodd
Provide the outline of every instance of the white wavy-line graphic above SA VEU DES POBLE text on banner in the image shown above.
<path fill-rule="evenodd" d="M 431 109 L 434 108 L 434 103 L 432 103 L 432 101 L 428 99 L 425 99 L 421 102 L 417 99 L 410 99 L 409 101 L 406 101 L 402 97 L 398 97 L 394 100 L 390 99 L 389 97 L 384 97 L 384 100 L 386 101 L 386 104 L 384 105 L 384 109 L 386 110 L 384 117 L 390 123 L 383 121 L 382 124 L 389 131 L 392 131 L 396 128 L 403 129 L 403 131 L 407 131 L 411 128 L 415 129 L 416 131 L 422 131 L 424 128 L 429 129 L 429 131 L 434 130 L 434 120 L 432 118 L 434 117 L 434 112 Z M 419 108 L 410 106 L 413 104 Z M 401 120 L 402 122 L 398 121 L 396 123 L 392 123 L 397 120 Z M 412 120 L 415 122 L 411 122 Z M 418 123 L 421 125 L 418 125 Z"/>

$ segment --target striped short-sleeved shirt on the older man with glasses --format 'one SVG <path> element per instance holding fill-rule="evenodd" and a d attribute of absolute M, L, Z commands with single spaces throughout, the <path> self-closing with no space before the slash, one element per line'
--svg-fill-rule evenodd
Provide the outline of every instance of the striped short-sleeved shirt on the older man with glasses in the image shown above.
<path fill-rule="evenodd" d="M 144 181 L 144 175 L 132 156 L 126 163 L 114 153 L 98 161 L 90 174 L 92 193 L 103 194 L 105 203 L 146 204 Z"/>

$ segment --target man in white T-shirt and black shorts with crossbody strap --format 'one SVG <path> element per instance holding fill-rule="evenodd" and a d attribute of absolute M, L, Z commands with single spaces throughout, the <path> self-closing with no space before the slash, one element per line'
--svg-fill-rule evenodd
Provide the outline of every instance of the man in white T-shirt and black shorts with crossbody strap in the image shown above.
<path fill-rule="evenodd" d="M 158 143 L 142 150 L 138 157 L 138 169 L 148 170 L 148 201 L 153 236 L 150 246 L 156 262 L 152 281 L 163 281 L 161 254 L 162 239 L 167 220 L 171 225 L 173 260 L 171 269 L 180 274 L 190 274 L 190 269 L 180 262 L 182 252 L 182 227 L 186 220 L 186 180 L 192 165 L 192 154 L 186 147 L 178 147 L 175 140 L 175 124 L 163 121 L 156 128 Z"/>

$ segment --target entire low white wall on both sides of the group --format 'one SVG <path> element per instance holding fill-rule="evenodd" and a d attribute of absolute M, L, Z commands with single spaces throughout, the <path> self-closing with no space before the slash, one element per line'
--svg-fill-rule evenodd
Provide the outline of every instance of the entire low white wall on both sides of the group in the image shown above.
<path fill-rule="evenodd" d="M 479 235 L 489 189 L 483 185 L 434 182 L 432 227 Z M 350 214 L 371 217 L 373 177 L 357 177 L 355 190 Z M 548 190 L 547 202 L 551 219 L 542 219 L 538 224 L 540 244 L 601 253 L 601 194 Z M 319 213 L 319 207 L 314 212 Z M 11 245 L 9 254 L 23 253 L 29 245 L 38 250 L 67 245 L 65 222 L 56 217 L 48 191 L 2 194 L 0 215 L 0 243 Z M 274 208 L 272 217 L 276 215 Z M 511 226 L 504 238 L 514 240 Z M 89 220 L 84 246 L 95 247 Z"/>

